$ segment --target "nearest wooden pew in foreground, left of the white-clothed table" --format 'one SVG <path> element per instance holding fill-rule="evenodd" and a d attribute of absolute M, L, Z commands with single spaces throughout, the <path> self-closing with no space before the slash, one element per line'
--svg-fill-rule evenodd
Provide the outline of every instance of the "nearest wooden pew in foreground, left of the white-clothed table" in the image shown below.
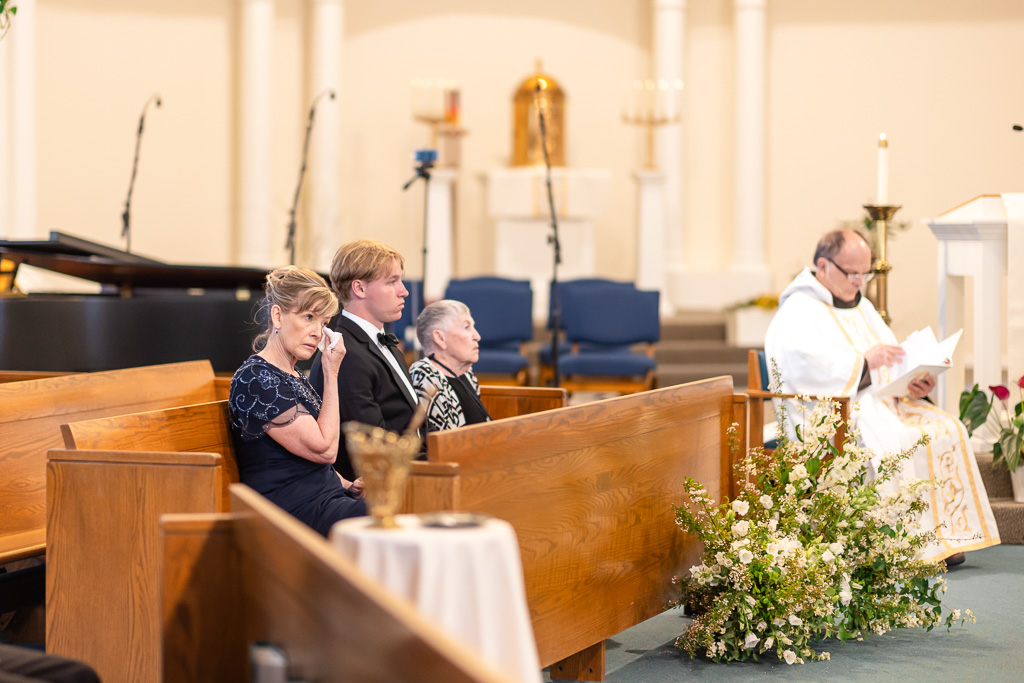
<path fill-rule="evenodd" d="M 250 681 L 262 641 L 308 681 L 512 682 L 252 489 L 231 508 L 161 521 L 165 681 Z"/>

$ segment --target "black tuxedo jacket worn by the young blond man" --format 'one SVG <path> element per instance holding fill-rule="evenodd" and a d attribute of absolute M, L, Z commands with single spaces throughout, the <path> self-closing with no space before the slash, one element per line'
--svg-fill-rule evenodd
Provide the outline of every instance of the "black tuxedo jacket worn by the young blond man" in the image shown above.
<path fill-rule="evenodd" d="M 406 389 L 401 378 L 384 357 L 384 352 L 371 340 L 358 325 L 344 315 L 338 316 L 335 330 L 344 335 L 345 357 L 338 371 L 338 403 L 342 424 L 355 420 L 400 432 L 409 426 L 416 410 L 416 397 Z M 409 368 L 401 353 L 396 354 L 398 365 L 409 377 Z M 309 372 L 313 388 L 324 395 L 324 369 L 319 353 Z M 411 382 L 412 383 L 412 382 Z M 338 442 L 338 460 L 334 467 L 346 479 L 354 479 L 355 472 L 345 450 L 345 435 Z"/>

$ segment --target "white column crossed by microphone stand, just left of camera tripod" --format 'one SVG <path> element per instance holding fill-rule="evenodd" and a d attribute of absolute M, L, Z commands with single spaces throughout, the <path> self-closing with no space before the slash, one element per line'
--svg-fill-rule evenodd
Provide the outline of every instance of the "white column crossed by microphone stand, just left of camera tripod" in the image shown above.
<path fill-rule="evenodd" d="M 344 240 L 341 236 L 341 78 L 345 4 L 343 0 L 312 0 L 312 74 L 309 99 L 325 90 L 335 99 L 321 100 L 309 141 L 307 234 L 300 240 L 306 263 L 322 271 Z M 300 230 L 301 231 L 301 230 Z"/>

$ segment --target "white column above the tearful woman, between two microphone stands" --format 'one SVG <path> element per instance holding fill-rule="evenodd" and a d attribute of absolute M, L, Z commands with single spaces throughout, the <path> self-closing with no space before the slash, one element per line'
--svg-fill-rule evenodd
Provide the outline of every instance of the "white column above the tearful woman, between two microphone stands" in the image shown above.
<path fill-rule="evenodd" d="M 270 213 L 273 0 L 241 1 L 242 105 L 239 109 L 242 147 L 239 151 L 238 261 L 269 267 L 279 264 L 285 241 L 284 229 L 271 229 Z"/>

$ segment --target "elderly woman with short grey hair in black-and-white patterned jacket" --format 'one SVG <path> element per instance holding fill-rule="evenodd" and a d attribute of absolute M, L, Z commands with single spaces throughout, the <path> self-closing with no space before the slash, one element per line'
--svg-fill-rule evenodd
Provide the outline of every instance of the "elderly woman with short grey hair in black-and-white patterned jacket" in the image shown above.
<path fill-rule="evenodd" d="M 416 336 L 426 357 L 409 369 L 413 386 L 421 398 L 428 386 L 437 389 L 427 414 L 428 430 L 488 422 L 471 370 L 480 357 L 480 335 L 466 304 L 442 299 L 425 307 L 416 318 Z"/>

